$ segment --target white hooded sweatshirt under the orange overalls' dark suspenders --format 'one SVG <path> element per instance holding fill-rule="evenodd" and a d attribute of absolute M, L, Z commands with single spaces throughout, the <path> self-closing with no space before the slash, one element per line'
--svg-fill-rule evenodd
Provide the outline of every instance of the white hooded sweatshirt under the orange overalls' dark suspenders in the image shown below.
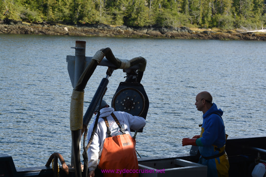
<path fill-rule="evenodd" d="M 88 149 L 89 171 L 95 170 L 95 168 L 97 167 L 98 158 L 100 158 L 102 155 L 104 140 L 105 138 L 108 137 L 106 133 L 107 128 L 105 122 L 101 117 L 107 118 L 109 123 L 109 128 L 111 131 L 111 136 L 117 136 L 119 134 L 122 134 L 122 132 L 120 132 L 118 125 L 115 123 L 115 120 L 111 116 L 112 112 L 114 112 L 114 115 L 119 120 L 120 125 L 125 129 L 125 133 L 130 134 L 130 136 L 132 136 L 130 133 L 130 128 L 133 130 L 139 130 L 146 125 L 146 121 L 143 117 L 132 116 L 131 114 L 126 112 L 114 111 L 114 108 L 111 107 L 102 108 L 100 110 L 98 125 L 93 136 L 92 144 Z M 95 119 L 96 115 L 94 117 L 93 123 L 90 125 L 88 129 L 88 134 L 87 134 L 88 142 L 92 134 Z"/>

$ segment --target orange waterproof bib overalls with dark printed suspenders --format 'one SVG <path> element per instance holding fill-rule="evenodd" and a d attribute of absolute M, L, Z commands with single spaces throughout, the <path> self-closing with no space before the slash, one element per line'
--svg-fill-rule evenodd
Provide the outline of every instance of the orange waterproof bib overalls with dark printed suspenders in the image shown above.
<path fill-rule="evenodd" d="M 104 177 L 139 176 L 138 158 L 135 149 L 136 141 L 130 134 L 124 133 L 124 129 L 114 113 L 111 113 L 111 115 L 123 134 L 111 137 L 108 121 L 106 117 L 103 117 L 108 138 L 105 138 L 98 168 L 101 169 Z"/>

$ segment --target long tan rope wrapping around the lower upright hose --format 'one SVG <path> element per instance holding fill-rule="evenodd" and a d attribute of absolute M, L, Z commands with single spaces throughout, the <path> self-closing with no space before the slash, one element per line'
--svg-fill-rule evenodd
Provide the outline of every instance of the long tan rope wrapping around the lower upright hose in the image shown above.
<path fill-rule="evenodd" d="M 73 89 L 70 102 L 70 130 L 82 129 L 84 90 L 79 92 Z"/>

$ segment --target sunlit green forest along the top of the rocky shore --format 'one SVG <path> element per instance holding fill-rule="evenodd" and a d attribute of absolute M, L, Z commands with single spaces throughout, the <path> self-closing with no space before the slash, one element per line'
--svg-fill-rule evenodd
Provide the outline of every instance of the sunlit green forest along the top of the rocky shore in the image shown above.
<path fill-rule="evenodd" d="M 34 24 L 262 29 L 266 0 L 0 0 L 0 20 Z"/>

